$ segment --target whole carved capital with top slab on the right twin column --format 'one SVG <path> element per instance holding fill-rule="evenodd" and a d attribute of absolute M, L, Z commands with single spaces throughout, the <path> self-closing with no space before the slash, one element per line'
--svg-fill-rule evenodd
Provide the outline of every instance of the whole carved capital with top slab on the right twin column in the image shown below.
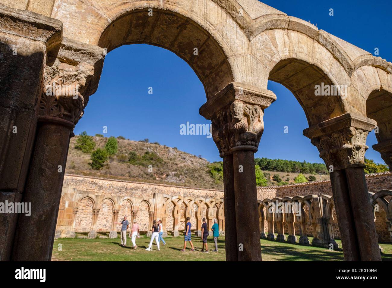
<path fill-rule="evenodd" d="M 376 127 L 376 122 L 344 114 L 305 129 L 303 134 L 311 139 L 320 152 L 327 168 L 365 167 L 366 138 Z"/>

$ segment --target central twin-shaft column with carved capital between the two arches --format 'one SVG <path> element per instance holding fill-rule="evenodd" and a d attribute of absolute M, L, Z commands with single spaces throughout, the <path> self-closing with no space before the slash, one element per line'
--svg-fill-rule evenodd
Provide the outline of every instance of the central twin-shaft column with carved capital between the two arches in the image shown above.
<path fill-rule="evenodd" d="M 227 261 L 261 261 L 254 152 L 274 100 L 268 90 L 230 83 L 200 108 L 223 158 Z"/>

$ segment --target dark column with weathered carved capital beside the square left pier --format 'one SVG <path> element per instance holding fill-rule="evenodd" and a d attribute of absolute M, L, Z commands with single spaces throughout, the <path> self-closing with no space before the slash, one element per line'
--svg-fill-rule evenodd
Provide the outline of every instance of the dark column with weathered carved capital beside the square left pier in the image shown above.
<path fill-rule="evenodd" d="M 94 71 L 99 68 L 99 75 L 102 69 L 102 65 L 96 64 L 99 60 L 103 63 L 102 49 L 90 49 L 91 46 L 63 39 L 59 51 L 62 62 L 57 58 L 53 65 L 45 66 L 34 148 L 22 199 L 31 203 L 31 216 L 20 215 L 18 219 L 11 260 L 51 259 L 69 141 L 89 95 L 98 85 Z M 97 213 L 94 211 L 94 215 Z"/>

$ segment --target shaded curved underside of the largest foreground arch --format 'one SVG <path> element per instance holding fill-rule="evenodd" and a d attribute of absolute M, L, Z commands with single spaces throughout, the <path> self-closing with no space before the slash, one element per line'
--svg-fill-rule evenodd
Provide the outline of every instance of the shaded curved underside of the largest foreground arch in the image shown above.
<path fill-rule="evenodd" d="M 228 56 L 200 24 L 172 9 L 134 5 L 113 15 L 97 45 L 107 52 L 126 44 L 146 43 L 168 49 L 187 62 L 201 83 L 207 99 L 233 82 Z M 152 16 L 149 16 L 152 13 Z M 156 13 L 156 14 L 154 14 Z M 195 50 L 198 49 L 195 54 Z"/>

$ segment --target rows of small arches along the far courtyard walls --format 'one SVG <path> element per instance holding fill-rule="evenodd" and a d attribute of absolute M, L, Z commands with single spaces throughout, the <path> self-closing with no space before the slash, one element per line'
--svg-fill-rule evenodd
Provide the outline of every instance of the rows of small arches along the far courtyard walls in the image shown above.
<path fill-rule="evenodd" d="M 182 235 L 187 217 L 191 219 L 192 232 L 196 236 L 201 236 L 201 221 L 204 217 L 208 229 L 212 227 L 213 220 L 217 219 L 220 234 L 225 235 L 222 198 L 192 198 L 162 193 L 155 193 L 151 199 L 96 196 L 83 191 L 76 194 L 78 199 L 68 199 L 67 207 L 63 199 L 67 196 L 60 200 L 56 238 L 73 238 L 76 233 L 87 232 L 87 238 L 96 238 L 98 235 L 117 238 L 121 227 L 116 226 L 116 222 L 124 216 L 127 216 L 130 223 L 136 220 L 140 232 L 147 235 L 151 235 L 153 220 L 162 220 L 164 236 L 167 236 L 168 232 L 174 237 Z M 374 220 L 376 221 L 376 212 L 380 212 L 378 215 L 382 217 L 377 219 L 379 223 L 376 230 L 378 232 L 385 223 L 389 242 L 392 242 L 392 201 L 388 201 L 391 197 L 392 190 L 369 193 Z M 334 250 L 339 248 L 335 239 L 340 238 L 340 232 L 332 196 L 313 194 L 265 198 L 258 200 L 258 214 L 261 239 L 310 245 L 308 236 L 311 236 L 313 246 Z M 209 233 L 211 234 L 211 231 Z M 288 237 L 285 234 L 288 234 Z"/>

